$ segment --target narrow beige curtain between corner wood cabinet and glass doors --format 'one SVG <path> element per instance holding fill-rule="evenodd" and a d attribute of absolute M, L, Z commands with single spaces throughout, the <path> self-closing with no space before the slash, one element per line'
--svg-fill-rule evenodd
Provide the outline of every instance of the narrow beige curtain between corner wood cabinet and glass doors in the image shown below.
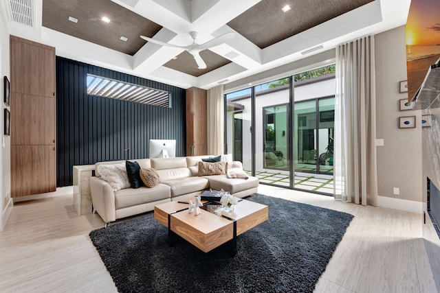
<path fill-rule="evenodd" d="M 223 85 L 208 90 L 208 154 L 223 154 L 224 102 Z"/>

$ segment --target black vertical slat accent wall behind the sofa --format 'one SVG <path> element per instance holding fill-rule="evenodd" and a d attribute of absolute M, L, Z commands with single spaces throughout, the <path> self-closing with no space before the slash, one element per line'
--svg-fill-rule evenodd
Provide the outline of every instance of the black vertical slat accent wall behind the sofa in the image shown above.
<path fill-rule="evenodd" d="M 168 91 L 172 108 L 87 95 L 87 73 Z M 74 165 L 148 158 L 150 139 L 176 139 L 186 155 L 184 89 L 57 56 L 56 93 L 58 187 L 73 184 Z"/>

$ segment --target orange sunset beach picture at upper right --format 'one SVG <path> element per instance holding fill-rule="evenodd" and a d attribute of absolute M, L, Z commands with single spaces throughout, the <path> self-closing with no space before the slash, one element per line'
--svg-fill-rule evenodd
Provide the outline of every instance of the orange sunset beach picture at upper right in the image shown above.
<path fill-rule="evenodd" d="M 440 1 L 412 0 L 406 23 L 408 99 L 419 90 L 431 65 L 440 58 Z"/>

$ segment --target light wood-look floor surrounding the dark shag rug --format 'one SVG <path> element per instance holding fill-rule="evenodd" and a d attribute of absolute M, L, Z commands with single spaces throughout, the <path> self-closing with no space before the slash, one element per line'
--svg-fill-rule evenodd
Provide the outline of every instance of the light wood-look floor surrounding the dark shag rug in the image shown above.
<path fill-rule="evenodd" d="M 421 215 L 260 185 L 259 193 L 355 215 L 316 292 L 440 292 L 440 240 Z M 72 195 L 15 204 L 0 232 L 0 292 L 116 292 Z"/>

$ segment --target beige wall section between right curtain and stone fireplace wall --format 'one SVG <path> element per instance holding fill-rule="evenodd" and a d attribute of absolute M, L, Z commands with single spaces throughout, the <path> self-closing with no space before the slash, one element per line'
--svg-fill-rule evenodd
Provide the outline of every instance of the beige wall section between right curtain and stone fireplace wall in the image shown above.
<path fill-rule="evenodd" d="M 379 205 L 421 213 L 420 110 L 399 111 L 399 81 L 406 80 L 405 26 L 375 36 Z M 416 128 L 399 129 L 398 117 L 416 116 Z M 399 196 L 393 195 L 399 188 Z"/>

